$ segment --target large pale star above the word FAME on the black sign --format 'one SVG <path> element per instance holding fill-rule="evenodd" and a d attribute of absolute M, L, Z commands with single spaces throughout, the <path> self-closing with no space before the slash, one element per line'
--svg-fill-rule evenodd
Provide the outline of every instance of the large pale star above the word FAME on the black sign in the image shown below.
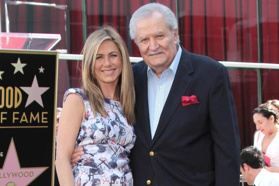
<path fill-rule="evenodd" d="M 33 79 L 33 83 L 32 83 L 31 87 L 20 87 L 20 88 L 28 94 L 28 99 L 26 101 L 25 107 L 27 107 L 33 101 L 36 101 L 37 103 L 39 103 L 42 106 L 42 108 L 44 108 L 41 95 L 44 92 L 46 92 L 49 89 L 49 87 L 39 87 L 36 75 Z"/>

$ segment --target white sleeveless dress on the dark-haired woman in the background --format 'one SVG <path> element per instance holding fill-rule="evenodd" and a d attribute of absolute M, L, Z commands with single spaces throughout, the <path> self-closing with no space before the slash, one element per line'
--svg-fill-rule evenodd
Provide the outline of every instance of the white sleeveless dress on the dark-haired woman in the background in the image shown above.
<path fill-rule="evenodd" d="M 263 140 L 264 133 L 262 133 L 260 130 L 257 131 L 254 136 L 254 146 L 257 147 L 257 149 L 259 149 L 260 151 L 262 151 Z M 276 134 L 276 136 L 267 147 L 265 155 L 270 158 L 271 166 L 279 167 L 279 132 Z"/>

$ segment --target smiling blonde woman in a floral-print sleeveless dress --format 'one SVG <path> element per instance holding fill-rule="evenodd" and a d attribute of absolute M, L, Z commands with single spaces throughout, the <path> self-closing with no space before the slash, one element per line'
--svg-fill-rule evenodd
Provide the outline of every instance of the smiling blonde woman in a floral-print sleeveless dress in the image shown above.
<path fill-rule="evenodd" d="M 59 183 L 133 185 L 128 159 L 136 139 L 133 72 L 115 29 L 101 28 L 86 40 L 82 82 L 82 89 L 69 89 L 64 96 L 55 161 Z M 78 147 L 84 154 L 72 169 Z"/>

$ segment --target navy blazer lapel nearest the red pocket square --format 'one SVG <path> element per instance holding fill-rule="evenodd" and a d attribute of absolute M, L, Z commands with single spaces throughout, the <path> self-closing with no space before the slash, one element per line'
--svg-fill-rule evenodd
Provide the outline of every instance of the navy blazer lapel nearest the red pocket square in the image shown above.
<path fill-rule="evenodd" d="M 164 128 L 167 126 L 171 116 L 174 114 L 176 108 L 181 103 L 181 96 L 185 94 L 188 86 L 192 81 L 192 78 L 189 76 L 189 74 L 191 74 L 194 70 L 192 67 L 192 62 L 190 60 L 190 53 L 186 51 L 182 46 L 181 48 L 182 53 L 176 70 L 176 75 L 171 85 L 171 90 L 169 91 L 169 95 L 167 97 L 164 108 L 162 110 L 159 124 L 152 139 L 151 146 L 155 143 L 155 141 L 163 132 Z"/>

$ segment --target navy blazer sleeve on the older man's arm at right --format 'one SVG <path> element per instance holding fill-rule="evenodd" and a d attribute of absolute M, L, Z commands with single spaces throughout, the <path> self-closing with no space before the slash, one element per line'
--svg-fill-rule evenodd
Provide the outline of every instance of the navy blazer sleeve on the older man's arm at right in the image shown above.
<path fill-rule="evenodd" d="M 215 184 L 239 185 L 240 139 L 237 112 L 228 71 L 217 69 L 209 96 L 211 133 L 214 141 Z"/>

